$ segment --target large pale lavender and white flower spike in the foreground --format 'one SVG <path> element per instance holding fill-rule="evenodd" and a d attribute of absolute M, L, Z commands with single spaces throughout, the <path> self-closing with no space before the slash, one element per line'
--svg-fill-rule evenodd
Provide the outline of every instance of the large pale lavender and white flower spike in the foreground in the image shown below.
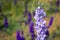
<path fill-rule="evenodd" d="M 35 20 L 36 20 L 36 27 L 35 30 L 37 32 L 36 40 L 46 40 L 48 29 L 46 27 L 46 21 L 43 19 L 46 17 L 46 13 L 40 7 L 38 7 L 35 11 Z"/>

